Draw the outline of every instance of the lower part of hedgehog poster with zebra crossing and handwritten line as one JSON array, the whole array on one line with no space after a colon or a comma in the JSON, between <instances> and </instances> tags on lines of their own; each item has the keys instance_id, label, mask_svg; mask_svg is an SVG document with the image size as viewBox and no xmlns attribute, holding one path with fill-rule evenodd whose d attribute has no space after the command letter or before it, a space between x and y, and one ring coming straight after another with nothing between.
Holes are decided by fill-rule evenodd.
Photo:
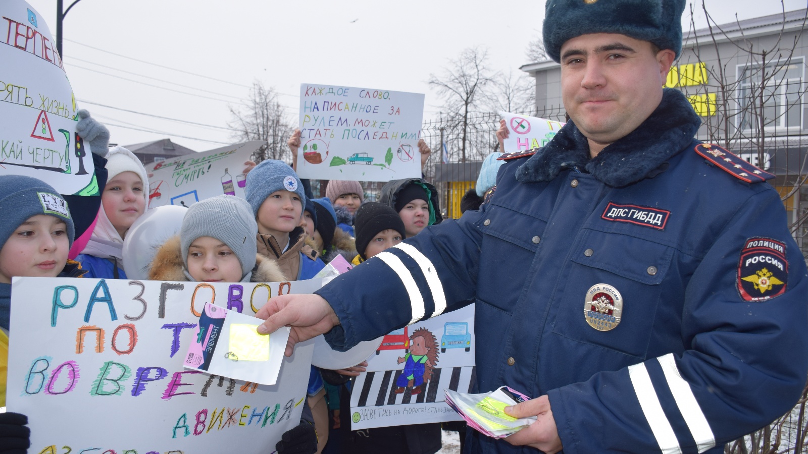
<instances>
[{"instance_id":1,"label":"lower part of hedgehog poster with zebra crossing and handwritten line","mask_svg":"<svg viewBox=\"0 0 808 454\"><path fill-rule=\"evenodd\" d=\"M425 391L412 395L410 389L395 393L395 378L401 373L402 369L399 369L366 372L356 377L351 392L351 413L355 415L352 429L458 421L460 416L444 402L445 389L470 393L477 378L474 366L436 368ZM406 422L409 414L415 417L413 422ZM424 419L424 414L428 414L428 420ZM390 418L389 423L385 422L385 416L393 415L396 417Z\"/></svg>"}]
</instances>

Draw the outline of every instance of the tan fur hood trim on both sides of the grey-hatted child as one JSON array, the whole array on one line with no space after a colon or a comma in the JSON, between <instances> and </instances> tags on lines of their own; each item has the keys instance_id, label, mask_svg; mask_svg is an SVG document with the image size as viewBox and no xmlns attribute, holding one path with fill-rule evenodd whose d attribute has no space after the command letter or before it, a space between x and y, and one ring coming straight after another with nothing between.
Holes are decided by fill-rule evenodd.
<instances>
[{"instance_id":1,"label":"tan fur hood trim on both sides of the grey-hatted child","mask_svg":"<svg viewBox=\"0 0 808 454\"><path fill-rule=\"evenodd\" d=\"M152 266L149 270L149 280L175 280L187 281L183 272L183 254L179 246L179 235L175 235L162 244L154 254ZM280 267L274 260L267 259L261 254L255 254L255 267L250 282L285 282L287 279L280 272Z\"/></svg>"}]
</instances>

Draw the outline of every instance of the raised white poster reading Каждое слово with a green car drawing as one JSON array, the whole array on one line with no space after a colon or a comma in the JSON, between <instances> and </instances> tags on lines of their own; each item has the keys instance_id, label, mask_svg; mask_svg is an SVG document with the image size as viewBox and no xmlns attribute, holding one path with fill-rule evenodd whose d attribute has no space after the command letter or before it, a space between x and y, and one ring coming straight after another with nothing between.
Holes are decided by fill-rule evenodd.
<instances>
[{"instance_id":1,"label":"raised white poster reading \u041a\u0430\u0436\u0434\u043e\u0435 \u0441\u043b\u043e\u0432\u043e with a green car drawing","mask_svg":"<svg viewBox=\"0 0 808 454\"><path fill-rule=\"evenodd\" d=\"M423 94L301 84L297 174L390 181L421 176Z\"/></svg>"}]
</instances>

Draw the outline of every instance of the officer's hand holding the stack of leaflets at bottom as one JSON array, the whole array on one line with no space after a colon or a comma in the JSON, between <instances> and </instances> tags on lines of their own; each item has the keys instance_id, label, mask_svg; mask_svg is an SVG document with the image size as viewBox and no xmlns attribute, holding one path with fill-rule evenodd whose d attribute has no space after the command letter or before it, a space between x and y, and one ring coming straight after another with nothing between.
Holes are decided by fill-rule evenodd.
<instances>
[{"instance_id":1,"label":"officer's hand holding the stack of leaflets at bottom","mask_svg":"<svg viewBox=\"0 0 808 454\"><path fill-rule=\"evenodd\" d=\"M507 406L505 413L514 418L528 416L538 418L537 422L533 422L530 426L507 437L505 441L508 443L530 446L547 454L554 454L562 450L561 439L558 438L558 429L556 429L555 419L553 419L553 410L550 410L550 400L546 395L515 406Z\"/></svg>"}]
</instances>

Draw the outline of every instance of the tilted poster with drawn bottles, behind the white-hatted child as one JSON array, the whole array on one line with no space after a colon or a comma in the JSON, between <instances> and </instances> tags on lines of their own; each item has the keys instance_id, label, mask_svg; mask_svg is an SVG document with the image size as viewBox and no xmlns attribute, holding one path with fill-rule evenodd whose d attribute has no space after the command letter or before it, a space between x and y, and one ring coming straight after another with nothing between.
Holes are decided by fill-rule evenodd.
<instances>
[{"instance_id":1,"label":"tilted poster with drawn bottles, behind the white-hatted child","mask_svg":"<svg viewBox=\"0 0 808 454\"><path fill-rule=\"evenodd\" d=\"M265 145L266 141L248 141L149 164L149 208L190 207L222 194L246 198L244 162Z\"/></svg>"}]
</instances>

